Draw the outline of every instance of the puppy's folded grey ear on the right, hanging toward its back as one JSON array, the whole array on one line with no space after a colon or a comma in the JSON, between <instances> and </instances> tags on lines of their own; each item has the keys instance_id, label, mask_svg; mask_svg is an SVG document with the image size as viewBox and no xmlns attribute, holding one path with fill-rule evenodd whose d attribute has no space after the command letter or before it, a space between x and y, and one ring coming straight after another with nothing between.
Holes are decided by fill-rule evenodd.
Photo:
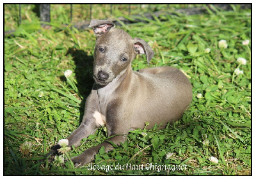
<instances>
[{"instance_id":1,"label":"puppy's folded grey ear on the right, hanging toward its back","mask_svg":"<svg viewBox=\"0 0 256 180\"><path fill-rule=\"evenodd\" d=\"M140 38L134 38L134 49L137 52L137 54L146 54L148 66L149 66L149 61L152 59L154 56L154 51L148 45L148 43L144 40L141 40Z\"/></svg>"}]
</instances>

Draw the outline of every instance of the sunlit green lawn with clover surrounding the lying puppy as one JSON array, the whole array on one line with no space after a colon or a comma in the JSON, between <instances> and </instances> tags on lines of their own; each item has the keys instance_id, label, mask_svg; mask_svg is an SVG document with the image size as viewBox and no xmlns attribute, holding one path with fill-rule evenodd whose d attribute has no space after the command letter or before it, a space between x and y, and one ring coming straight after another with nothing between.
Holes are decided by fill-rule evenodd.
<instances>
[{"instance_id":1,"label":"sunlit green lawn with clover surrounding the lying puppy","mask_svg":"<svg viewBox=\"0 0 256 180\"><path fill-rule=\"evenodd\" d=\"M36 19L35 14L28 14ZM5 18L12 15L13 10L4 11ZM65 22L65 17L61 20ZM12 26L8 23L4 24L5 31L15 27L14 20ZM155 52L150 67L174 66L188 75L193 102L180 121L164 130L157 126L148 131L134 130L113 151L100 149L94 163L113 165L109 171L88 170L87 166L74 169L69 161L69 157L104 141L106 128L64 154L65 163L61 157L51 163L44 158L59 139L79 126L93 84L92 30L52 24L51 29L41 29L35 20L4 38L5 175L252 174L251 43L242 44L243 40L251 41L250 10L236 6L232 11L218 10L210 15L163 15L147 24L120 27L132 37L148 41ZM220 40L227 40L227 49L218 47ZM211 52L205 53L207 48ZM246 59L246 65L239 65L238 57ZM237 66L243 74L234 73ZM136 57L132 68L147 68L145 57ZM70 81L64 77L65 70L73 71ZM196 97L199 93L202 98ZM172 156L166 159L167 153ZM218 163L209 161L211 156L218 158ZM117 165L130 163L134 169L115 170ZM136 170L136 165L147 163L187 168Z\"/></svg>"}]
</instances>

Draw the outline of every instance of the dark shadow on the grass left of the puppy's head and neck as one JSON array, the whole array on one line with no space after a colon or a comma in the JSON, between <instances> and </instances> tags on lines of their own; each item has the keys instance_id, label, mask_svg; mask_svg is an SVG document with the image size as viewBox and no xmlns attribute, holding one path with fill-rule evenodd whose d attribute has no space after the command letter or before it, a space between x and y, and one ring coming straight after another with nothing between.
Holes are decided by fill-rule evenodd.
<instances>
[{"instance_id":1,"label":"dark shadow on the grass left of the puppy's head and neck","mask_svg":"<svg viewBox=\"0 0 256 180\"><path fill-rule=\"evenodd\" d=\"M92 90L94 83L93 80L93 56L88 56L83 50L78 50L74 48L69 48L66 56L71 54L73 60L76 64L76 80L77 80L77 89L80 97L82 99L80 103L80 117L79 124L83 120L84 115L84 105L86 98ZM65 77L63 77L65 79Z\"/></svg>"}]
</instances>

